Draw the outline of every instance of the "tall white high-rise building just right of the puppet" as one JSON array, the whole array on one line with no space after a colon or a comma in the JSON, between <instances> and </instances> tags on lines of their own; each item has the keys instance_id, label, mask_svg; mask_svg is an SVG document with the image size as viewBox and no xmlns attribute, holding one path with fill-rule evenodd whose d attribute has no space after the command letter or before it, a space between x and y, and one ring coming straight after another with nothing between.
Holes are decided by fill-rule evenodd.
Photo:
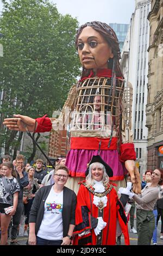
<instances>
[{"instance_id":1,"label":"tall white high-rise building just right of the puppet","mask_svg":"<svg viewBox=\"0 0 163 256\"><path fill-rule=\"evenodd\" d=\"M147 169L146 103L148 85L148 45L151 0L135 0L129 30L122 50L121 66L126 81L133 86L132 126L136 162L140 173Z\"/></svg>"}]
</instances>

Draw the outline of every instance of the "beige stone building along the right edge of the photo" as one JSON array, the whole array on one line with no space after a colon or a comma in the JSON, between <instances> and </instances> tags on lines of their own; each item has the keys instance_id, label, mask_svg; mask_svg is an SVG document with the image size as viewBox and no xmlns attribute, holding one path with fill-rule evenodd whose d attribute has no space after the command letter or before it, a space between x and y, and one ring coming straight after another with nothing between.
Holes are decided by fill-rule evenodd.
<instances>
[{"instance_id":1,"label":"beige stone building along the right edge of the photo","mask_svg":"<svg viewBox=\"0 0 163 256\"><path fill-rule=\"evenodd\" d=\"M163 1L152 0L148 61L148 169L163 168Z\"/></svg>"}]
</instances>

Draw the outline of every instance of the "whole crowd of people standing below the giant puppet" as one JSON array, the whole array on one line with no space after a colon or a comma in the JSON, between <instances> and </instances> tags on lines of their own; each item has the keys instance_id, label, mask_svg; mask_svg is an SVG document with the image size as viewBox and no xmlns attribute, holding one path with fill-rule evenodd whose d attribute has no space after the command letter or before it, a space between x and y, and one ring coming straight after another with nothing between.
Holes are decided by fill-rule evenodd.
<instances>
[{"instance_id":1,"label":"whole crowd of people standing below the giant puppet","mask_svg":"<svg viewBox=\"0 0 163 256\"><path fill-rule=\"evenodd\" d=\"M162 169L145 172L139 195L131 190L128 176L127 187L119 189L118 198L115 184L109 180L111 167L101 156L93 156L76 195L66 187L69 170L65 161L60 157L55 169L47 173L42 169L42 159L37 159L34 167L25 164L23 155L12 162L10 156L2 157L1 245L8 245L9 235L10 245L19 245L22 215L26 216L24 235L28 236L28 245L121 245L122 234L129 245L128 220L130 232L137 233L137 245L151 245L151 241L156 245L160 217L163 239ZM129 215L126 204L131 205Z\"/></svg>"}]
</instances>

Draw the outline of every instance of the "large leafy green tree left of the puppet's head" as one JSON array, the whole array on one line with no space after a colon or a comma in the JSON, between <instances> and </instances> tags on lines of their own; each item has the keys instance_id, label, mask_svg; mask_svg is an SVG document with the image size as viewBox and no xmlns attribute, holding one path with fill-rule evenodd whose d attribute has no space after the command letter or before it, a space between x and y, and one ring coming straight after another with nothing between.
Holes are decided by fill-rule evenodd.
<instances>
[{"instance_id":1,"label":"large leafy green tree left of the puppet's head","mask_svg":"<svg viewBox=\"0 0 163 256\"><path fill-rule=\"evenodd\" d=\"M0 92L5 93L0 113L32 118L48 113L51 117L64 105L79 75L74 47L78 21L59 14L49 1L2 2L0 27L5 37L0 39Z\"/></svg>"}]
</instances>

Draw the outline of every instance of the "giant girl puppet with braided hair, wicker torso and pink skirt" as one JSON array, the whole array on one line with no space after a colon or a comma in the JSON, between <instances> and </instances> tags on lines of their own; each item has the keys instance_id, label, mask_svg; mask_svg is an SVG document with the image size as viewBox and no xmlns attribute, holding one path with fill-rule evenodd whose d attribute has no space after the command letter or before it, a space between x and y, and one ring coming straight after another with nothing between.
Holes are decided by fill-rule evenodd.
<instances>
[{"instance_id":1,"label":"giant girl puppet with braided hair, wicker torso and pink skirt","mask_svg":"<svg viewBox=\"0 0 163 256\"><path fill-rule=\"evenodd\" d=\"M124 87L120 68L120 47L113 29L105 23L87 22L78 29L76 48L83 66L82 76L72 86L59 119L45 115L32 119L23 115L4 119L10 130L45 132L70 122L71 149L66 166L70 169L68 186L78 191L87 164L100 155L113 170L110 180L124 186L130 173L133 191L141 191L139 171L131 131L132 87ZM67 182L68 183L68 182Z\"/></svg>"}]
</instances>

